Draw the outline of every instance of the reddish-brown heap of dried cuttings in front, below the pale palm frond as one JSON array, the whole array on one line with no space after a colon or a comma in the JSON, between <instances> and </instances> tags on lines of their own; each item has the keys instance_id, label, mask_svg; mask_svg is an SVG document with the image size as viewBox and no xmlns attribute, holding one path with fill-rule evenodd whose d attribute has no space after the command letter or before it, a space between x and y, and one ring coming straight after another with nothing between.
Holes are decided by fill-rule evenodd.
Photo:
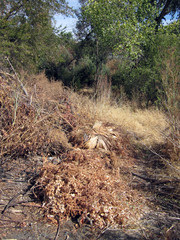
<instances>
[{"instance_id":1,"label":"reddish-brown heap of dried cuttings in front, below the pale palm frond","mask_svg":"<svg viewBox=\"0 0 180 240\"><path fill-rule=\"evenodd\" d=\"M103 228L120 226L141 216L143 199L110 167L110 158L92 150L74 150L59 165L45 162L36 192L45 215L55 221L79 218Z\"/></svg>"}]
</instances>

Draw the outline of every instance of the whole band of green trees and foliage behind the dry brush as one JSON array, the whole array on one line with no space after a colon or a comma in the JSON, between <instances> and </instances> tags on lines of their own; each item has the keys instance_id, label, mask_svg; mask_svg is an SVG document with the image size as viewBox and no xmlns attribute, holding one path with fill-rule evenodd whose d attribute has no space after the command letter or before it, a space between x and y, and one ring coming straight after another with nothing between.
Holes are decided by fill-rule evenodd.
<instances>
[{"instance_id":1,"label":"whole band of green trees and foliage behind the dry brush","mask_svg":"<svg viewBox=\"0 0 180 240\"><path fill-rule=\"evenodd\" d=\"M179 61L179 21L158 25L158 31L157 24L162 13L166 14L164 9L173 15L179 9L178 3L80 2L75 41L72 34L52 25L53 14L70 13L66 1L0 1L1 59L7 56L17 71L45 70L49 79L62 80L77 89L96 86L98 79L107 78L112 79L113 90L124 89L129 99L136 93L146 105L172 102L175 91L169 90L178 89L173 83L177 74L170 70L177 69L175 63ZM119 66L112 71L106 63L114 56Z\"/></svg>"}]
</instances>

